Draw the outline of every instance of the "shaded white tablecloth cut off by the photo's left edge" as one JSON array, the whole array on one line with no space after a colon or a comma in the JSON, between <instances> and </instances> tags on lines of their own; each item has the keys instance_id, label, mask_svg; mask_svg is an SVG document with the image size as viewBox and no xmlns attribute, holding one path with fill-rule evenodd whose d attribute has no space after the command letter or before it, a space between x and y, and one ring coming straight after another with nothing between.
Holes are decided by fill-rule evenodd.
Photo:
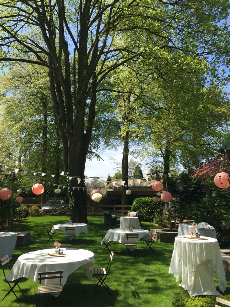
<instances>
[{"instance_id":1,"label":"shaded white tablecloth cut off by the photo's left edge","mask_svg":"<svg viewBox=\"0 0 230 307\"><path fill-rule=\"evenodd\" d=\"M6 255L12 258L12 254L17 241L17 233L13 232L1 232L0 233L0 258Z\"/></svg>"}]
</instances>

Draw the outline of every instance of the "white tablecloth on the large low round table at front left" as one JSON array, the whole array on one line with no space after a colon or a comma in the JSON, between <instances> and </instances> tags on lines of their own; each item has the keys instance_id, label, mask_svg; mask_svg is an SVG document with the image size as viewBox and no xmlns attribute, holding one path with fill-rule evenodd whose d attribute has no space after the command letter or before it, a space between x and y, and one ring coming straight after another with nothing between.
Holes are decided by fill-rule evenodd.
<instances>
[{"instance_id":1,"label":"white tablecloth on the large low round table at front left","mask_svg":"<svg viewBox=\"0 0 230 307\"><path fill-rule=\"evenodd\" d=\"M68 276L81 265L87 268L86 276L92 278L91 267L95 263L92 252L85 249L63 248L63 253L67 254L67 257L54 257L48 253L55 253L55 249L42 249L19 256L6 279L12 281L19 277L26 277L37 282L39 272L63 270L62 285L64 285ZM56 279L43 281L43 285L55 283L57 283Z\"/></svg>"}]
</instances>

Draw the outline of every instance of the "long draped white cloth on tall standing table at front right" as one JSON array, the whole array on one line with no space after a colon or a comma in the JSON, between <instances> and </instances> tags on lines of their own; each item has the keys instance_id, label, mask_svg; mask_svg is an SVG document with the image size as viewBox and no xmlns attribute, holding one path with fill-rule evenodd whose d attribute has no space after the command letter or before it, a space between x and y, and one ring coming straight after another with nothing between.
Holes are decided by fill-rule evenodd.
<instances>
[{"instance_id":1,"label":"long draped white cloth on tall standing table at front right","mask_svg":"<svg viewBox=\"0 0 230 307\"><path fill-rule=\"evenodd\" d=\"M183 236L176 237L168 272L174 274L176 282L179 276L182 276L179 286L187 290L190 297L220 295L212 276L218 276L222 292L227 286L220 247L214 238L196 240Z\"/></svg>"}]
</instances>

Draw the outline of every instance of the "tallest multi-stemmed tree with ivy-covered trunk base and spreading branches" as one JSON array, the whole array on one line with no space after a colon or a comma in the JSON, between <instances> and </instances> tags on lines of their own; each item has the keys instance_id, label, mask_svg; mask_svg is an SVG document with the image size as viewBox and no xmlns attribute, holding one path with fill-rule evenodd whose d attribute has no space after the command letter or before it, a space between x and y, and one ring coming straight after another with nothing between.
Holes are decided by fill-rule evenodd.
<instances>
[{"instance_id":1,"label":"tallest multi-stemmed tree with ivy-covered trunk base and spreading branches","mask_svg":"<svg viewBox=\"0 0 230 307\"><path fill-rule=\"evenodd\" d=\"M217 53L214 40L218 34L225 38L217 23L226 18L228 8L227 0L0 3L0 60L49 69L53 112L63 143L65 169L73 177L71 184L78 185L76 177L84 178L96 96L103 79L148 51L156 58L157 49L168 53L180 49L199 56ZM121 39L123 33L126 35ZM150 38L147 47L143 41L148 43ZM223 53L224 45L220 47ZM84 187L84 181L79 185ZM73 220L87 222L84 189L74 190L71 207Z\"/></svg>"}]
</instances>

